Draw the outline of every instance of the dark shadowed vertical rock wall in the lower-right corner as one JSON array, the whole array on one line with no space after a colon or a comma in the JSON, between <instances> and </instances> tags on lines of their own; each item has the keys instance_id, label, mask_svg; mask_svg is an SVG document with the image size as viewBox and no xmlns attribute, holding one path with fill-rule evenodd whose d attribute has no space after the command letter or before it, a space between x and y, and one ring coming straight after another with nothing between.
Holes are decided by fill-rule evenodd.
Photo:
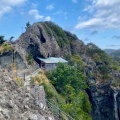
<instances>
[{"instance_id":1,"label":"dark shadowed vertical rock wall in the lower-right corner","mask_svg":"<svg viewBox=\"0 0 120 120\"><path fill-rule=\"evenodd\" d=\"M93 120L120 119L120 90L108 85L91 85L88 90L92 103Z\"/></svg>"}]
</instances>

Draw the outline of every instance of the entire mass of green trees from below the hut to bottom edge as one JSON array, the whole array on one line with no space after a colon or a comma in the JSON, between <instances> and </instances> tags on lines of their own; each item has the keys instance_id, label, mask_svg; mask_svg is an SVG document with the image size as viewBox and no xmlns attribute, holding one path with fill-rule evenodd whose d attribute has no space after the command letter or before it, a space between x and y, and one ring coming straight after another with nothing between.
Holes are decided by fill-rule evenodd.
<instances>
[{"instance_id":1,"label":"entire mass of green trees from below the hut to bottom edge","mask_svg":"<svg viewBox=\"0 0 120 120\"><path fill-rule=\"evenodd\" d=\"M91 104L85 92L87 87L85 77L80 72L69 65L58 64L56 70L48 75L56 91L64 98L65 104L61 109L70 114L74 119L91 120L89 113Z\"/></svg>"}]
</instances>

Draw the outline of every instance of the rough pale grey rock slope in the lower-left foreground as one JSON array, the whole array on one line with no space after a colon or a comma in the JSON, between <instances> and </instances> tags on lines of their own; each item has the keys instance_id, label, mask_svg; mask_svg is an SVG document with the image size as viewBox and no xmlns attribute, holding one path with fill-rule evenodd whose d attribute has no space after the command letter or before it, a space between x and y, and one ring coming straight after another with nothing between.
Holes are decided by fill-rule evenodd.
<instances>
[{"instance_id":1,"label":"rough pale grey rock slope in the lower-left foreground","mask_svg":"<svg viewBox=\"0 0 120 120\"><path fill-rule=\"evenodd\" d=\"M0 120L54 120L42 86L19 88L0 70Z\"/></svg>"}]
</instances>

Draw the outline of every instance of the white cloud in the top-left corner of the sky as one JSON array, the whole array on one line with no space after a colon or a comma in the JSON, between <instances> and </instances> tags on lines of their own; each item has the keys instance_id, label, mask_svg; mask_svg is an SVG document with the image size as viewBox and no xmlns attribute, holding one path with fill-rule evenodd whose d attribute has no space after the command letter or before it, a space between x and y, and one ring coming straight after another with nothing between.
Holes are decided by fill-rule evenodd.
<instances>
[{"instance_id":1,"label":"white cloud in the top-left corner of the sky","mask_svg":"<svg viewBox=\"0 0 120 120\"><path fill-rule=\"evenodd\" d=\"M0 17L9 13L13 7L24 4L27 0L0 0Z\"/></svg>"}]
</instances>

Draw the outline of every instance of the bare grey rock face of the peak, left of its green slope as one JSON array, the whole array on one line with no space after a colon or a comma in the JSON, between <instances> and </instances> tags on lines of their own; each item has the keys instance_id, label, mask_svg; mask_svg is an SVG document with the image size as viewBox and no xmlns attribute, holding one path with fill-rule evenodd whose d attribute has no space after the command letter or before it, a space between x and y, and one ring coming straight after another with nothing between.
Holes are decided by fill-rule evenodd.
<instances>
[{"instance_id":1,"label":"bare grey rock face of the peak, left of its green slope","mask_svg":"<svg viewBox=\"0 0 120 120\"><path fill-rule=\"evenodd\" d=\"M55 37L48 36L40 23L33 24L29 27L27 31L19 37L17 44L28 53L38 54L42 57L48 57L48 55L53 56L61 52Z\"/></svg>"}]
</instances>

